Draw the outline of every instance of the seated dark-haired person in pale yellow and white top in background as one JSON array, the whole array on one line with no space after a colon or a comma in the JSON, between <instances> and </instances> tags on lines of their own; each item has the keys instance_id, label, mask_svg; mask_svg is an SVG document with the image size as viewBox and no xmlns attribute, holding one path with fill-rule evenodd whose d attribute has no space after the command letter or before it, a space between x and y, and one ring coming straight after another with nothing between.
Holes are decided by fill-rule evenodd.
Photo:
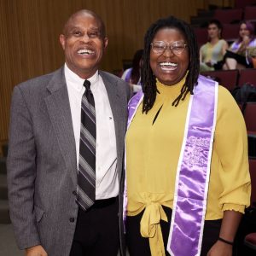
<instances>
[{"instance_id":1,"label":"seated dark-haired person in pale yellow and white top in background","mask_svg":"<svg viewBox=\"0 0 256 256\"><path fill-rule=\"evenodd\" d=\"M223 59L229 44L222 39L223 26L219 20L211 20L208 24L208 42L200 49L200 71L222 69Z\"/></svg>"}]
</instances>

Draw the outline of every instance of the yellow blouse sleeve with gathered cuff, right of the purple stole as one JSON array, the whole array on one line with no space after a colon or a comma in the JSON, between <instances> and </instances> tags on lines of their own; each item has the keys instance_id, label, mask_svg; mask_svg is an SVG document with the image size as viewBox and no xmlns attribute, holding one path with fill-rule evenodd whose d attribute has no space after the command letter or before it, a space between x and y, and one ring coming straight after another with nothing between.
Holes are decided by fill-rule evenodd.
<instances>
[{"instance_id":1,"label":"yellow blouse sleeve with gathered cuff, right of the purple stole","mask_svg":"<svg viewBox=\"0 0 256 256\"><path fill-rule=\"evenodd\" d=\"M244 212L250 204L251 180L248 167L247 130L236 101L219 86L214 150L218 154L222 193L219 204L225 210Z\"/></svg>"}]
</instances>

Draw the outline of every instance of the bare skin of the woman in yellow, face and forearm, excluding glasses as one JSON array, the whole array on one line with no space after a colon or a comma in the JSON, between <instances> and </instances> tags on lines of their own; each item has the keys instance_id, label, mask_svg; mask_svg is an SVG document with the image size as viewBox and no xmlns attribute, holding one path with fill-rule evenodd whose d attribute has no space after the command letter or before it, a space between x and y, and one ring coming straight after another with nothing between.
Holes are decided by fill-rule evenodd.
<instances>
[{"instance_id":1,"label":"bare skin of the woman in yellow, face and forearm, excluding glasses","mask_svg":"<svg viewBox=\"0 0 256 256\"><path fill-rule=\"evenodd\" d=\"M186 42L182 32L176 28L160 29L153 39L163 41L166 44L172 42ZM172 65L167 65L172 63ZM162 54L156 54L150 51L150 67L157 79L166 86L177 84L185 76L189 67L189 51L184 49L179 55L173 54L171 49L166 49ZM224 211L224 217L221 224L219 236L227 241L234 241L236 230L241 221L242 214L235 211ZM232 256L232 246L223 241L216 241L207 253L207 256Z\"/></svg>"}]
</instances>

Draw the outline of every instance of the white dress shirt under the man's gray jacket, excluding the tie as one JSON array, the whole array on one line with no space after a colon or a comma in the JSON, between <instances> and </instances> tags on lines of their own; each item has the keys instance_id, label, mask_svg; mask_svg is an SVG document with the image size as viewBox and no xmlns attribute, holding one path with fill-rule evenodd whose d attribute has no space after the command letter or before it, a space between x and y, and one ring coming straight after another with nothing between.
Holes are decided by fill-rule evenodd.
<instances>
[{"instance_id":1,"label":"white dress shirt under the man's gray jacket, excluding the tie","mask_svg":"<svg viewBox=\"0 0 256 256\"><path fill-rule=\"evenodd\" d=\"M84 79L73 73L67 67L67 64L65 64L64 72L76 142L77 166L79 168L81 101L85 91ZM119 194L113 113L108 101L107 90L99 73L96 72L88 80L90 81L90 90L94 96L96 108L96 200L107 199Z\"/></svg>"}]
</instances>

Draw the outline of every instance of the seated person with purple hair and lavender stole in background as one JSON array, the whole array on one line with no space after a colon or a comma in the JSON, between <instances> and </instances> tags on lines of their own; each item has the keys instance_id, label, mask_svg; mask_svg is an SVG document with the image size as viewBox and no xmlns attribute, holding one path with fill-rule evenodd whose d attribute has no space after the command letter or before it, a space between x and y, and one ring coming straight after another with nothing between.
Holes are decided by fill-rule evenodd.
<instances>
[{"instance_id":1,"label":"seated person with purple hair and lavender stole in background","mask_svg":"<svg viewBox=\"0 0 256 256\"><path fill-rule=\"evenodd\" d=\"M253 67L252 58L248 55L248 48L256 47L253 24L241 21L239 38L230 45L224 58L223 69L244 69Z\"/></svg>"}]
</instances>

